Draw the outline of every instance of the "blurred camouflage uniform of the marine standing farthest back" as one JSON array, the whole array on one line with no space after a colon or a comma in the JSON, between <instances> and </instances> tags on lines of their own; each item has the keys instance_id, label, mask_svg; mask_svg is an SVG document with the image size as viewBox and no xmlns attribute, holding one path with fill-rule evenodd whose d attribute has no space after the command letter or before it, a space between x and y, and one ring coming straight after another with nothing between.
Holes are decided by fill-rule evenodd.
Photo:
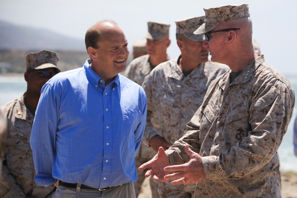
<instances>
[{"instance_id":1,"label":"blurred camouflage uniform of the marine standing farthest back","mask_svg":"<svg viewBox=\"0 0 297 198\"><path fill-rule=\"evenodd\" d=\"M167 56L167 60L169 60L169 56ZM149 63L149 55L140 56L138 58L135 58L131 61L131 63L127 66L127 69L125 71L125 76L129 78L130 80L133 80L135 83L142 85L144 77L146 75L149 75L151 72L151 67ZM155 126L155 130L160 131L160 129L157 129L158 126ZM156 151L154 151L151 147L147 147L146 145L143 145L141 143L139 151L137 153L137 156L135 158L136 163L136 171L137 171L137 180L134 182L135 192L136 196L140 193L141 185L143 183L143 180L145 179L145 173L146 170L138 170L138 167L140 165L146 163L147 161L151 160L155 155ZM155 185L153 180L151 179L151 187L152 185ZM153 195L155 192L152 192Z\"/></svg>"}]
</instances>

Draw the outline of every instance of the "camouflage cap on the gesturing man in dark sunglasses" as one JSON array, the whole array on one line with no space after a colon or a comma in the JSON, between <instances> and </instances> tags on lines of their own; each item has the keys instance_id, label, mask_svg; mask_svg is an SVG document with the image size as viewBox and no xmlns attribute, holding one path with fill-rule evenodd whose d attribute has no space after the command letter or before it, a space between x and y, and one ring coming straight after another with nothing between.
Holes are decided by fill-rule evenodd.
<instances>
[{"instance_id":1,"label":"camouflage cap on the gesturing man in dark sunglasses","mask_svg":"<svg viewBox=\"0 0 297 198\"><path fill-rule=\"evenodd\" d=\"M194 34L204 34L211 31L219 23L230 20L249 17L249 5L226 5L221 7L203 8L205 11L205 23Z\"/></svg>"}]
</instances>

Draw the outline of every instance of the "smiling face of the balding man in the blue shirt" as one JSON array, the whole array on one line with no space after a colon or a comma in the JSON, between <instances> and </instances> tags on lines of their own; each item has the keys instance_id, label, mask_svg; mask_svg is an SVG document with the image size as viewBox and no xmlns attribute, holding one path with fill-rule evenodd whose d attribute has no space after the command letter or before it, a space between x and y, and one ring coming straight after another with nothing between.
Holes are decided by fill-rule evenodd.
<instances>
[{"instance_id":1,"label":"smiling face of the balding man in the blue shirt","mask_svg":"<svg viewBox=\"0 0 297 198\"><path fill-rule=\"evenodd\" d=\"M128 42L123 32L104 34L98 42L98 62L105 72L116 76L126 69L129 56Z\"/></svg>"}]
</instances>

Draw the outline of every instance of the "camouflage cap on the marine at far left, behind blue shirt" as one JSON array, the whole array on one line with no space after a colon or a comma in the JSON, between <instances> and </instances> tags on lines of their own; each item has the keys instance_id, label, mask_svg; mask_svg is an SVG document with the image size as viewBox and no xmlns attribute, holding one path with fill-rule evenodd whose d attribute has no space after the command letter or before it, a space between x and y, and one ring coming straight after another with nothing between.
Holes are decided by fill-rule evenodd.
<instances>
[{"instance_id":1,"label":"camouflage cap on the marine at far left, behind blue shirt","mask_svg":"<svg viewBox=\"0 0 297 198\"><path fill-rule=\"evenodd\" d=\"M54 67L61 72L57 67L59 57L55 52L49 50L42 50L36 53L29 53L26 56L26 70L30 69L45 69Z\"/></svg>"}]
</instances>

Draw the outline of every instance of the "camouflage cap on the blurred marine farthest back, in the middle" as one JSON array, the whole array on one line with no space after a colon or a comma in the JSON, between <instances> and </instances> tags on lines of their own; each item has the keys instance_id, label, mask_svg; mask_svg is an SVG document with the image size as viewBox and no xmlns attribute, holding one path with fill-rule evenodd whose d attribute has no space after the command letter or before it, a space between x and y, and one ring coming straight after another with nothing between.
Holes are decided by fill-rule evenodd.
<instances>
[{"instance_id":1,"label":"camouflage cap on the blurred marine farthest back, in the middle","mask_svg":"<svg viewBox=\"0 0 297 198\"><path fill-rule=\"evenodd\" d=\"M149 31L144 35L146 39L159 39L169 34L170 24L161 22L148 22Z\"/></svg>"}]
</instances>

